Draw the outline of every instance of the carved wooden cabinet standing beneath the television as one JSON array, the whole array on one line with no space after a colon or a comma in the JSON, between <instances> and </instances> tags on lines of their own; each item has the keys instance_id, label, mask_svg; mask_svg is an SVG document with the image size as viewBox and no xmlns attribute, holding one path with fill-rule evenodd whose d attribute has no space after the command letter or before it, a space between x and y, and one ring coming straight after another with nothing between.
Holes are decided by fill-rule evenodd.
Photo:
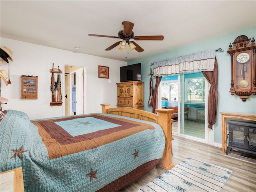
<instances>
[{"instance_id":1,"label":"carved wooden cabinet standing beneath the television","mask_svg":"<svg viewBox=\"0 0 256 192\"><path fill-rule=\"evenodd\" d=\"M144 110L143 84L141 81L117 83L117 107Z\"/></svg>"}]
</instances>

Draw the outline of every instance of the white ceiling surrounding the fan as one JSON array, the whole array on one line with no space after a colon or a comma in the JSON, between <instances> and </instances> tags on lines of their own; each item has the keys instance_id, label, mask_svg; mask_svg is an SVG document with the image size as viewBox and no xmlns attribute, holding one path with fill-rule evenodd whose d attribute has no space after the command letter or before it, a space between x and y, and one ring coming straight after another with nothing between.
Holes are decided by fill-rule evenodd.
<instances>
[{"instance_id":1,"label":"white ceiling surrounding the fan","mask_svg":"<svg viewBox=\"0 0 256 192\"><path fill-rule=\"evenodd\" d=\"M1 0L0 8L1 37L122 61L256 26L255 0ZM164 40L136 41L144 52L125 53L104 50L120 39L88 36L118 36L123 21L134 23L135 36Z\"/></svg>"}]
</instances>

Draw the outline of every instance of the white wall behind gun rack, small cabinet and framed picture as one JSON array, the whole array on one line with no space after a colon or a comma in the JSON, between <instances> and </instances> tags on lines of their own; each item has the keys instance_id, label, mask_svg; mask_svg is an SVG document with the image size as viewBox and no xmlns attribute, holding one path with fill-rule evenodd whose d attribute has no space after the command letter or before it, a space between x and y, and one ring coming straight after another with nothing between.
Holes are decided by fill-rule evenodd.
<instances>
[{"instance_id":1,"label":"white wall behind gun rack, small cabinet and framed picture","mask_svg":"<svg viewBox=\"0 0 256 192\"><path fill-rule=\"evenodd\" d=\"M52 74L49 70L60 66L62 70L62 96L64 97L64 65L82 66L86 68L86 113L101 112L100 103L117 104L117 86L120 82L120 66L127 63L118 60L101 58L76 52L40 46L36 44L0 38L1 46L7 46L13 51L13 62L10 61L10 81L5 85L1 81L2 97L8 98L8 104L2 105L2 110L13 109L24 111L30 119L64 116L62 106L50 106L52 93L50 83ZM98 66L108 66L109 79L98 78ZM0 69L8 72L8 64L1 62ZM38 99L21 99L21 75L38 76ZM64 99L62 99L64 102Z\"/></svg>"}]
</instances>

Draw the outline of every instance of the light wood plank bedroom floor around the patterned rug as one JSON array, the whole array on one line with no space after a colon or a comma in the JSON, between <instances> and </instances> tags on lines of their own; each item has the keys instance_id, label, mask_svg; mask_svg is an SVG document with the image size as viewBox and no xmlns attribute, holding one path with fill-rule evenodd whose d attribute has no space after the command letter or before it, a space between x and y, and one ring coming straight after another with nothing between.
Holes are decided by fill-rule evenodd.
<instances>
[{"instance_id":1,"label":"light wood plank bedroom floor around the patterned rug","mask_svg":"<svg viewBox=\"0 0 256 192\"><path fill-rule=\"evenodd\" d=\"M236 154L222 154L222 149L201 142L182 138L173 133L172 162L177 165L188 157L195 157L218 166L233 170L228 182L221 192L255 192L256 191L256 160ZM160 174L164 169L156 166L148 174L136 182L126 186L120 192L135 192Z\"/></svg>"}]
</instances>

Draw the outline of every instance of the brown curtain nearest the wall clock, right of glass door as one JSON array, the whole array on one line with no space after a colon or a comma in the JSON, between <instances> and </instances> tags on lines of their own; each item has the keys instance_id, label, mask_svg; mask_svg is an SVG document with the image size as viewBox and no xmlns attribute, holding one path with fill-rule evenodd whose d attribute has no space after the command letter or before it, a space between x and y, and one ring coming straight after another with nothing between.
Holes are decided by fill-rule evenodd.
<instances>
[{"instance_id":1,"label":"brown curtain nearest the wall clock, right of glass door","mask_svg":"<svg viewBox=\"0 0 256 192\"><path fill-rule=\"evenodd\" d=\"M216 122L218 106L218 62L215 58L213 71L202 71L204 77L210 82L209 100L208 100L208 128Z\"/></svg>"}]
</instances>

